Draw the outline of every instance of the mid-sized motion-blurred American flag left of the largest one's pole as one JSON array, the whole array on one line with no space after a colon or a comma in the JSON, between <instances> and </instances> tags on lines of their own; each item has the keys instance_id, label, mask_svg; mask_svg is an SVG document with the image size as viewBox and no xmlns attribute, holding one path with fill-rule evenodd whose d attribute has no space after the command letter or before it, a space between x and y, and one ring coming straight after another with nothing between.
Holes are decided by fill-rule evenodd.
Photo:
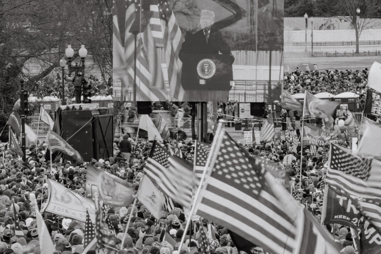
<instances>
[{"instance_id":1,"label":"mid-sized motion-blurred American flag left of the largest one's pole","mask_svg":"<svg viewBox=\"0 0 381 254\"><path fill-rule=\"evenodd\" d=\"M171 156L154 141L144 171L165 195L186 208L191 207L192 186L197 182L193 181L192 167L186 161Z\"/></svg>"}]
</instances>

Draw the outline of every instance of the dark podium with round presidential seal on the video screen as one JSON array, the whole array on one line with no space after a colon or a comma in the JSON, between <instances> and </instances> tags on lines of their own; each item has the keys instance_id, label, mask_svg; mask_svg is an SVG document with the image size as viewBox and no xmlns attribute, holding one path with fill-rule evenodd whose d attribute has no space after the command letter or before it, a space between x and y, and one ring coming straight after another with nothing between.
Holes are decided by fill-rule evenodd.
<instances>
[{"instance_id":1,"label":"dark podium with round presidential seal on the video screen","mask_svg":"<svg viewBox=\"0 0 381 254\"><path fill-rule=\"evenodd\" d=\"M227 101L233 81L231 58L227 54L183 54L184 101Z\"/></svg>"}]
</instances>

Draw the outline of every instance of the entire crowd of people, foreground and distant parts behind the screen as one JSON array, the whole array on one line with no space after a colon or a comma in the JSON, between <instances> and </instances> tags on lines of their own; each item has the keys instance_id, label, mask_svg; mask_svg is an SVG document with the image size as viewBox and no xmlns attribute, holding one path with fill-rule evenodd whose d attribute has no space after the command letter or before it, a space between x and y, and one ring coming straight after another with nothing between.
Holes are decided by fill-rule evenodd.
<instances>
[{"instance_id":1,"label":"entire crowd of people, foreground and distant parts behind the screen","mask_svg":"<svg viewBox=\"0 0 381 254\"><path fill-rule=\"evenodd\" d=\"M352 91L360 95L361 104L365 103L367 88L368 70L325 70L325 71L300 71L285 73L284 89L291 94L303 93L305 90L316 94L327 91L332 94ZM90 76L88 81L93 87L93 94L107 95L112 86L112 80L106 87L96 78ZM61 91L61 78L57 76L56 86L46 86L41 84L39 91L35 91L40 96L58 96ZM70 81L65 87L68 99L74 97ZM219 102L217 117L227 120L226 126L234 126L233 118L238 116L238 102ZM152 104L152 110L169 110L171 116L178 121L183 117L191 117L191 104L170 105L162 102ZM123 112L123 122L134 122L139 114L136 107L127 107ZM136 190L143 176L144 163L147 160L151 142L138 141L124 133L122 137L114 139L114 156L106 160L91 160L96 168L103 169L114 174L125 181L131 182ZM164 141L164 145L175 152L179 157L184 158L193 165L195 159L195 144L192 141L171 140ZM274 137L271 142L258 142L256 144L243 145L251 155L260 157L274 165L278 171L286 172L285 181L295 182L294 195L305 205L312 214L320 221L322 214L323 190L322 178L327 171L326 155L327 146L317 147L316 153L303 148L301 155L300 142L297 147L293 147L292 138L279 140ZM85 196L86 165L87 163L77 163L75 161L61 161L57 158L53 162L45 159L46 144L32 144L27 147L27 161L24 162L14 152L6 149L6 144L0 144L3 152L2 163L0 165L0 253L4 254L38 254L40 253L39 235L37 224L32 212L32 206L41 204L48 200L48 185L44 177L48 177L66 186L68 189ZM290 187L288 187L290 188ZM289 189L290 190L290 189ZM15 236L15 224L13 217L12 200L15 203L16 214L24 232L24 237ZM125 241L122 244L126 224L131 210L130 228L127 229ZM85 223L77 220L70 220L55 214L43 213L45 224L53 240L55 254L81 254L84 248ZM228 233L227 228L213 222L194 221L197 225L196 231L185 232L188 239L179 250L179 242L185 228L185 212L183 208L175 204L173 209L165 209L161 213L160 219L155 219L141 203L136 203L128 207L108 207L107 218L112 222L115 230L115 242L119 253L122 254L200 254L200 228L210 232L208 223L215 228L215 235L207 233L211 254L234 254L238 253L237 248ZM328 231L332 232L335 240L338 241L343 253L355 253L353 238L349 228L335 225L326 225ZM164 237L163 230L171 236L171 239ZM192 240L189 243L189 234ZM163 239L164 238L164 239ZM255 247L252 253L264 253L260 247ZM95 253L94 250L87 252Z\"/></svg>"}]
</instances>

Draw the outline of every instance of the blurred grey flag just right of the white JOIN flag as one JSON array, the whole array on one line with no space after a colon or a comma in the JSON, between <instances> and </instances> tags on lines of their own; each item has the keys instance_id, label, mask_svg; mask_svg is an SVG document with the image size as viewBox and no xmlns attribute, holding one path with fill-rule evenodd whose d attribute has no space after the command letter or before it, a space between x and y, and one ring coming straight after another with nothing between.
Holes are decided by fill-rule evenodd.
<instances>
[{"instance_id":1,"label":"blurred grey flag just right of the white JOIN flag","mask_svg":"<svg viewBox=\"0 0 381 254\"><path fill-rule=\"evenodd\" d=\"M86 195L88 198L99 196L103 203L112 206L128 206L133 203L134 186L113 174L86 165Z\"/></svg>"}]
</instances>

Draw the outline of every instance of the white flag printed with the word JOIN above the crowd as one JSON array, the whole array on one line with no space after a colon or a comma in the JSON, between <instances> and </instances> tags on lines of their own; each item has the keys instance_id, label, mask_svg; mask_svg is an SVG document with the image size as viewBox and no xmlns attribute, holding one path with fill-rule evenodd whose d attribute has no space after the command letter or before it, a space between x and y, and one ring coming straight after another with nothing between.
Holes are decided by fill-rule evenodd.
<instances>
[{"instance_id":1,"label":"white flag printed with the word JOIN above the crowd","mask_svg":"<svg viewBox=\"0 0 381 254\"><path fill-rule=\"evenodd\" d=\"M63 185L48 179L49 199L44 211L67 218L86 222L86 209L91 221L95 222L95 204L93 201L72 192Z\"/></svg>"}]
</instances>

